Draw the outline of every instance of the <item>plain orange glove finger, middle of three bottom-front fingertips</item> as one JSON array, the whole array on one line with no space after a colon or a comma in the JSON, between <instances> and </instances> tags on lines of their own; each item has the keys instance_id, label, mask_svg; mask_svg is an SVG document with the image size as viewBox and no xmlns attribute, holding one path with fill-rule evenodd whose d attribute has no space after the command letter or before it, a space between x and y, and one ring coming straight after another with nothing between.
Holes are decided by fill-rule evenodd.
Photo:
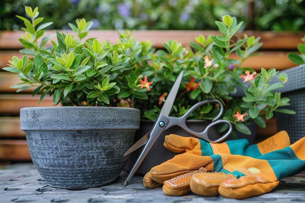
<instances>
[{"instance_id":1,"label":"plain orange glove finger, middle of three bottom-front fingertips","mask_svg":"<svg viewBox=\"0 0 305 203\"><path fill-rule=\"evenodd\" d=\"M218 194L218 187L224 181L235 177L225 173L200 173L191 178L190 188L195 194L201 196L215 196Z\"/></svg>"}]
</instances>

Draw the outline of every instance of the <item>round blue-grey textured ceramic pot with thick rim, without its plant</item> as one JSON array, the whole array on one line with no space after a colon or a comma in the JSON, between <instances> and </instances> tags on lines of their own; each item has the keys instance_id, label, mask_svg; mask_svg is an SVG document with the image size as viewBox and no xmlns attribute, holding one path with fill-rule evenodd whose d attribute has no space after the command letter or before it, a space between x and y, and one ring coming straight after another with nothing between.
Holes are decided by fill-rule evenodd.
<instances>
[{"instance_id":1,"label":"round blue-grey textured ceramic pot with thick rim, without its plant","mask_svg":"<svg viewBox=\"0 0 305 203\"><path fill-rule=\"evenodd\" d=\"M30 107L20 110L32 161L52 187L113 182L123 170L140 110L117 107Z\"/></svg>"}]
</instances>

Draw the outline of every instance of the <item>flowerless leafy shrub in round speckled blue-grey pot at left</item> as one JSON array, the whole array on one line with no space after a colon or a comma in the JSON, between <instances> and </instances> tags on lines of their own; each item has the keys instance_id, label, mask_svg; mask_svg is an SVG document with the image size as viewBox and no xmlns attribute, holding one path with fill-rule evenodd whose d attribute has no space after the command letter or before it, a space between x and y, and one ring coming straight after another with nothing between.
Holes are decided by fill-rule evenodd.
<instances>
[{"instance_id":1,"label":"flowerless leafy shrub in round speckled blue-grey pot at left","mask_svg":"<svg viewBox=\"0 0 305 203\"><path fill-rule=\"evenodd\" d=\"M152 50L145 50L142 47L149 44L134 38L122 38L115 45L96 39L81 41L92 26L85 19L77 19L76 26L70 24L76 37L56 31L57 42L47 44L54 36L42 36L52 23L40 24L43 18L38 18L37 7L25 10L30 20L17 16L25 24L25 35L19 38L25 47L20 53L25 55L22 59L13 56L3 69L18 73L21 83L13 86L17 91L36 86L33 96L41 93L40 102L50 95L54 105L63 106L20 110L33 163L53 187L109 184L126 164L123 154L133 144L140 123L140 110L120 107L118 96L128 94L120 89L127 85L125 76L143 66L150 53L146 51ZM122 58L121 52L129 57ZM135 87L131 95L145 99L145 90Z\"/></svg>"}]
</instances>

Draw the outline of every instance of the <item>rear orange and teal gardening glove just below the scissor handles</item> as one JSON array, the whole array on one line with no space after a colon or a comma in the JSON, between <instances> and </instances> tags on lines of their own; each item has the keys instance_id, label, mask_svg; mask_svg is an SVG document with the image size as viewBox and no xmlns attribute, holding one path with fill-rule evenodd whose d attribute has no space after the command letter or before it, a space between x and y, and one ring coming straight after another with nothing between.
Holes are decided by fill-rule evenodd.
<instances>
[{"instance_id":1,"label":"rear orange and teal gardening glove just below the scissor handles","mask_svg":"<svg viewBox=\"0 0 305 203\"><path fill-rule=\"evenodd\" d=\"M289 136L286 131L280 131L272 137L254 145L249 145L247 139L230 140L213 144L193 137L182 137L173 134L167 135L165 136L163 145L172 152L185 153L176 155L173 159L153 167L144 176L143 184L145 187L155 188L161 186L165 180L184 173L197 171L202 167L198 160L201 160L203 156L226 153L255 157L273 150L283 149L289 146L289 144ZM188 176L187 178L190 180L190 177ZM185 178L179 180L184 181ZM184 182L189 182L189 180ZM188 187L188 184L184 186Z\"/></svg>"}]
</instances>

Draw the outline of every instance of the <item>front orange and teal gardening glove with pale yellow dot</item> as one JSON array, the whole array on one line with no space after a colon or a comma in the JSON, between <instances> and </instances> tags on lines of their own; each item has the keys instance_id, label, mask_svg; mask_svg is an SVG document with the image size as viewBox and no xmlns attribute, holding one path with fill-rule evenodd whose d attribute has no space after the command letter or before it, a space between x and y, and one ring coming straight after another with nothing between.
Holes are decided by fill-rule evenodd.
<instances>
[{"instance_id":1,"label":"front orange and teal gardening glove with pale yellow dot","mask_svg":"<svg viewBox=\"0 0 305 203\"><path fill-rule=\"evenodd\" d=\"M204 158L203 158L204 159ZM195 194L225 198L248 198L267 193L278 180L305 170L305 137L280 150L257 158L219 154L200 160L206 170L191 178L190 188Z\"/></svg>"}]
</instances>

